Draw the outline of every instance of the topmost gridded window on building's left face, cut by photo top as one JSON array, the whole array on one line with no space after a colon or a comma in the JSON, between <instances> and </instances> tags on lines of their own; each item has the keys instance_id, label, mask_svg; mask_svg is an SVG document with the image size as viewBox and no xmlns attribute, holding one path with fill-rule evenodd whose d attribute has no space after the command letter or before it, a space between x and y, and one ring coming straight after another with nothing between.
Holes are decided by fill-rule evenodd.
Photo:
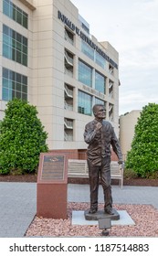
<instances>
[{"instance_id":1,"label":"topmost gridded window on building's left face, cut by photo top","mask_svg":"<svg viewBox=\"0 0 158 256\"><path fill-rule=\"evenodd\" d=\"M23 27L28 26L28 15L10 0L3 0L3 13Z\"/></svg>"}]
</instances>

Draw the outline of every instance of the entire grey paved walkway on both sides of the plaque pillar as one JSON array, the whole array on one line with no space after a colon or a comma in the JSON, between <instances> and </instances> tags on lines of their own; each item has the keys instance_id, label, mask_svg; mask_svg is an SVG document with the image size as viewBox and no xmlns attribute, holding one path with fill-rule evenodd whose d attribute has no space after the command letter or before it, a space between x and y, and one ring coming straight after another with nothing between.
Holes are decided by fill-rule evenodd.
<instances>
[{"instance_id":1,"label":"entire grey paved walkway on both sides of the plaque pillar","mask_svg":"<svg viewBox=\"0 0 158 256\"><path fill-rule=\"evenodd\" d=\"M99 191L103 202L102 187ZM113 203L150 204L158 208L158 187L112 186ZM89 185L68 184L69 202L89 202ZM37 211L37 184L0 182L0 238L24 237Z\"/></svg>"}]
</instances>

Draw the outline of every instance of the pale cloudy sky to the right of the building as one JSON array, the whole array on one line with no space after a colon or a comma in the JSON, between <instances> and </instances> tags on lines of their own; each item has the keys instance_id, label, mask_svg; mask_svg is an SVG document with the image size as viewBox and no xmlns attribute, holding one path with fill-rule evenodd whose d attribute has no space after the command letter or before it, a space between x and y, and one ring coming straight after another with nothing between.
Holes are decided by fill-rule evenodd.
<instances>
[{"instance_id":1,"label":"pale cloudy sky to the right of the building","mask_svg":"<svg viewBox=\"0 0 158 256\"><path fill-rule=\"evenodd\" d=\"M120 58L120 114L158 103L158 0L71 0Z\"/></svg>"}]
</instances>

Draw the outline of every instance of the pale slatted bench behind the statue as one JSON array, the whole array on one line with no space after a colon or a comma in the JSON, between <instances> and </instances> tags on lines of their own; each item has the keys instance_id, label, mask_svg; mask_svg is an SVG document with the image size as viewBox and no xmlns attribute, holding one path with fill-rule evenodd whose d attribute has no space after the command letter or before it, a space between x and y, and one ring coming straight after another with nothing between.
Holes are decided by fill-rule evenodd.
<instances>
[{"instance_id":1,"label":"pale slatted bench behind the statue","mask_svg":"<svg viewBox=\"0 0 158 256\"><path fill-rule=\"evenodd\" d=\"M89 177L87 160L68 159L68 177ZM123 187L123 166L117 161L111 161L111 179L119 179Z\"/></svg>"}]
</instances>

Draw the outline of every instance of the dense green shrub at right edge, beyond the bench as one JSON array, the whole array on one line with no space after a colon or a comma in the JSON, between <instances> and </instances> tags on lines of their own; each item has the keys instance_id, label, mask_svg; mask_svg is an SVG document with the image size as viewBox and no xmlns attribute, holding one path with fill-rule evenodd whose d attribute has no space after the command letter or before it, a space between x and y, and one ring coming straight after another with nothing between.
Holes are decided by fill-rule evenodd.
<instances>
[{"instance_id":1,"label":"dense green shrub at right edge, beyond the bench","mask_svg":"<svg viewBox=\"0 0 158 256\"><path fill-rule=\"evenodd\" d=\"M149 103L142 108L135 126L132 149L127 154L126 167L142 177L158 172L158 104Z\"/></svg>"}]
</instances>

